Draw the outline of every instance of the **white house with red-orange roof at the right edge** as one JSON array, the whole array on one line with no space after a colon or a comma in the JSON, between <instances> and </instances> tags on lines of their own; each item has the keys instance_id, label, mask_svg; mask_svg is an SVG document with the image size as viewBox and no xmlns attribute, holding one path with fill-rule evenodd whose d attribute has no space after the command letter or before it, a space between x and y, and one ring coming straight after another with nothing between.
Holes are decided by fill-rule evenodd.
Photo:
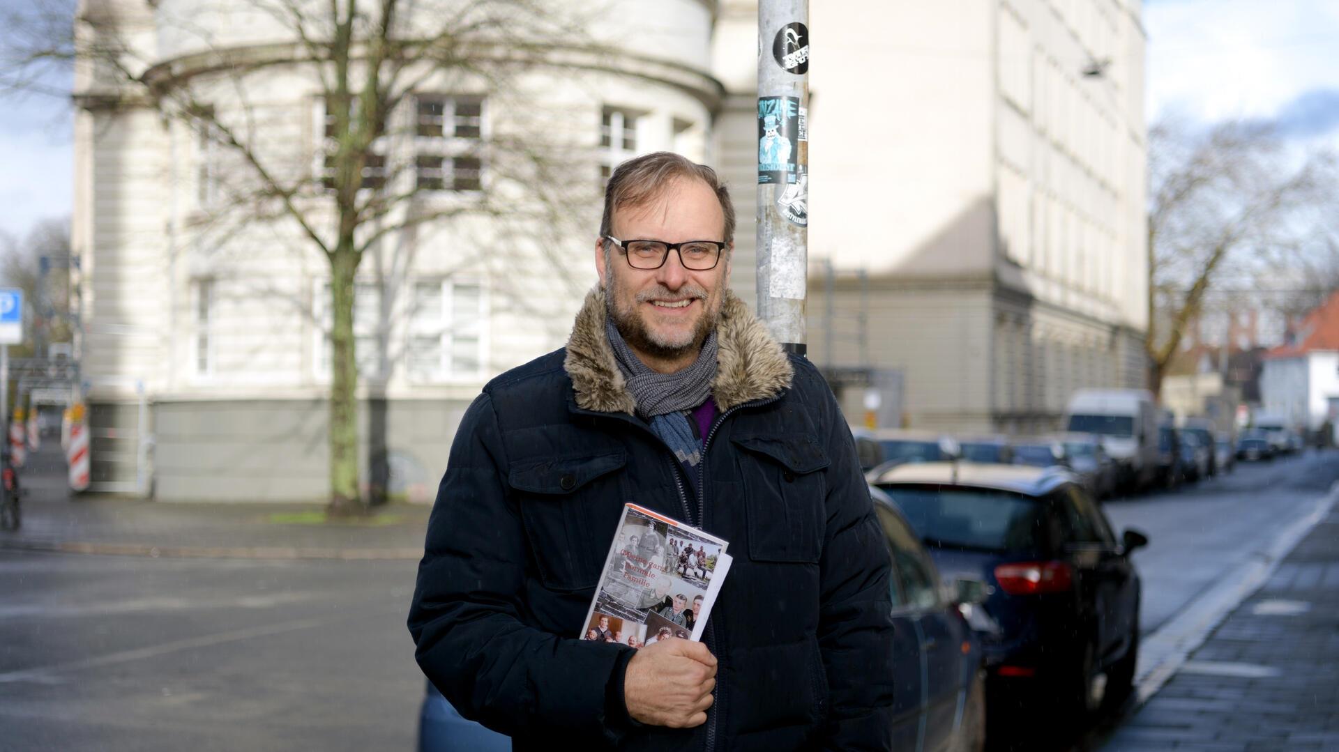
<instances>
[{"instance_id":1,"label":"white house with red-orange roof at the right edge","mask_svg":"<svg viewBox=\"0 0 1339 752\"><path fill-rule=\"evenodd\" d=\"M1265 353L1260 401L1264 413L1281 416L1293 428L1339 424L1339 292L1306 314L1287 343Z\"/></svg>"}]
</instances>

